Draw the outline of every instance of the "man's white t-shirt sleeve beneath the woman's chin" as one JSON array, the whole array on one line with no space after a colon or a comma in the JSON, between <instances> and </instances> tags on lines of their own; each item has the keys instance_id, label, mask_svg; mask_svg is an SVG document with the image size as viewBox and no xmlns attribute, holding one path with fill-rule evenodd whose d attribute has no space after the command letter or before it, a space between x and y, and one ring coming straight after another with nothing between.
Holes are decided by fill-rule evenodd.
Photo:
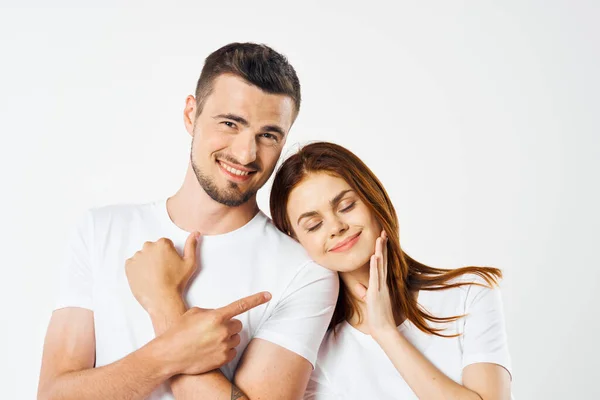
<instances>
[{"instance_id":1,"label":"man's white t-shirt sleeve beneath the woman's chin","mask_svg":"<svg viewBox=\"0 0 600 400\"><path fill-rule=\"evenodd\" d=\"M308 262L296 273L254 338L267 340L307 359L314 368L333 315L337 274Z\"/></svg>"}]
</instances>

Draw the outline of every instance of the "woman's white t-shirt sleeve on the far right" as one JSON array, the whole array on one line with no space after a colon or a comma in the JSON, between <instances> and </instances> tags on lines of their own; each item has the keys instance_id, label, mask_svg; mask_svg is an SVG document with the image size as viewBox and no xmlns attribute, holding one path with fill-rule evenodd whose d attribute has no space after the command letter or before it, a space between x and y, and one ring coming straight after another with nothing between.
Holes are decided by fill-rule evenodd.
<instances>
[{"instance_id":1,"label":"woman's white t-shirt sleeve on the far right","mask_svg":"<svg viewBox=\"0 0 600 400\"><path fill-rule=\"evenodd\" d=\"M484 283L480 278L475 282ZM470 285L465 312L462 367L493 363L512 376L500 289Z\"/></svg>"}]
</instances>

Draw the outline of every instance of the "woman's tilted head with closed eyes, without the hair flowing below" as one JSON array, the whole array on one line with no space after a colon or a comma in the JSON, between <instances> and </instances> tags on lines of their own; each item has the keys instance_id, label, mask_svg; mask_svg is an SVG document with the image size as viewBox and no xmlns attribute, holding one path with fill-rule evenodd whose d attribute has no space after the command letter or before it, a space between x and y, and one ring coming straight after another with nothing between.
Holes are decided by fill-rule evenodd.
<instances>
[{"instance_id":1,"label":"woman's tilted head with closed eyes, without the hair flowing below","mask_svg":"<svg viewBox=\"0 0 600 400\"><path fill-rule=\"evenodd\" d=\"M275 225L325 268L348 272L369 262L381 221L396 216L381 183L352 152L333 143L288 158L271 190ZM394 226L395 228L395 226Z\"/></svg>"}]
</instances>

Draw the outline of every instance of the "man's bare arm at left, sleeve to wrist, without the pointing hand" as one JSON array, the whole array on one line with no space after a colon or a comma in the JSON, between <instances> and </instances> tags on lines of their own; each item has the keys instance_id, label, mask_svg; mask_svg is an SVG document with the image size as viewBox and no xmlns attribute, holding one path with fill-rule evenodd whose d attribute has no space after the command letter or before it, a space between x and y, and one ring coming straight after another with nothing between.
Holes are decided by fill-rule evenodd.
<instances>
[{"instance_id":1,"label":"man's bare arm at left, sleeve to wrist, without the pointing hand","mask_svg":"<svg viewBox=\"0 0 600 400\"><path fill-rule=\"evenodd\" d=\"M55 311L44 343L38 399L142 399L175 373L156 340L100 368L94 368L95 347L92 311Z\"/></svg>"}]
</instances>

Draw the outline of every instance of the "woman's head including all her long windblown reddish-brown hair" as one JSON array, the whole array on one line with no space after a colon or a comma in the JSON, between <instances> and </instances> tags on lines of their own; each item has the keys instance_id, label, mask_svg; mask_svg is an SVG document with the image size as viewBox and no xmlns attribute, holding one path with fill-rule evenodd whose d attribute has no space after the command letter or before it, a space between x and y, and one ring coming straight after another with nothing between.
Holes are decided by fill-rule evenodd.
<instances>
[{"instance_id":1,"label":"woman's head including all her long windblown reddish-brown hair","mask_svg":"<svg viewBox=\"0 0 600 400\"><path fill-rule=\"evenodd\" d=\"M275 226L334 271L366 265L384 230L388 236L386 283L394 317L397 321L407 318L423 332L445 336L443 328L430 327L428 321L451 322L461 316L431 315L419 307L414 293L467 285L454 280L467 273L479 275L490 286L502 276L496 268L433 268L404 253L396 211L383 185L360 158L333 143L311 143L288 158L275 175L270 202ZM361 321L358 302L340 285L330 327L355 315Z\"/></svg>"}]
</instances>

